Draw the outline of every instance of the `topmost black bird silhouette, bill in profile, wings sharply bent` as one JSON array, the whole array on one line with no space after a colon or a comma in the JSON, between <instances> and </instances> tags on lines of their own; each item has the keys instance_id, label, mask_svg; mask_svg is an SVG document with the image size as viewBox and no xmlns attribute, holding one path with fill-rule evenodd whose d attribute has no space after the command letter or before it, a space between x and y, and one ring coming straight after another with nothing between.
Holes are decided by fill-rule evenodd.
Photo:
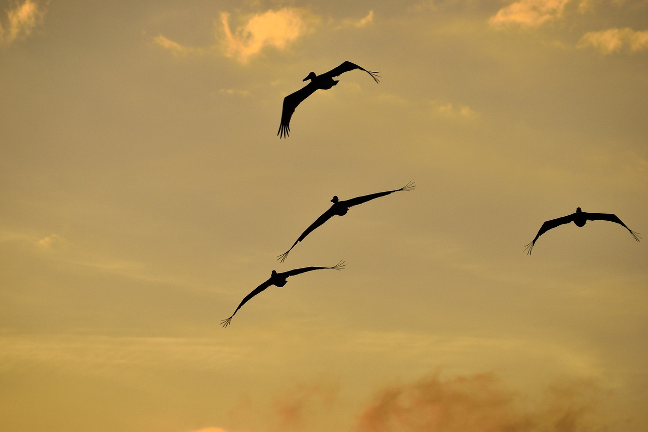
<instances>
[{"instance_id":1,"label":"topmost black bird silhouette, bill in profile, wings sharply bent","mask_svg":"<svg viewBox=\"0 0 648 432\"><path fill-rule=\"evenodd\" d=\"M353 69L360 69L361 71L365 71L366 73L371 75L371 78L373 78L375 82L380 82L378 81L380 75L376 75L376 73L379 72L367 71L367 69L364 69L363 67L360 67L357 64L353 64L351 62L344 62L340 66L334 67L330 71L325 72L321 75L315 75L314 72L309 73L308 77L303 79L303 81L310 80L310 82L305 87L295 91L295 93L292 93L291 95L284 97L284 106L281 112L281 125L279 126L279 132L277 132L279 138L283 138L284 136L286 138L288 137L288 132L290 132L290 117L292 117L292 114L295 112L297 105L299 105L308 96L315 93L316 90L329 90L332 86L335 86L339 82L338 80L334 80L333 77L338 77L338 75L341 75L348 71L353 71Z\"/></svg>"}]
</instances>

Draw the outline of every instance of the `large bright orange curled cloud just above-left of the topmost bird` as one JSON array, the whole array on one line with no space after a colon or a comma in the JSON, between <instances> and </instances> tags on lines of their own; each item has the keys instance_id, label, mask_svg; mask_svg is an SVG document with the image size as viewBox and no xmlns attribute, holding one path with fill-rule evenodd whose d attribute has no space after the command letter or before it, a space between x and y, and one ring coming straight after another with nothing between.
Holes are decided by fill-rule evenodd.
<instances>
[{"instance_id":1,"label":"large bright orange curled cloud just above-left of the topmost bird","mask_svg":"<svg viewBox=\"0 0 648 432\"><path fill-rule=\"evenodd\" d=\"M297 8L268 10L250 18L234 32L229 27L229 14L222 12L220 22L224 32L222 45L228 57L242 63L259 54L266 46L283 50L308 31L303 12Z\"/></svg>"}]
</instances>

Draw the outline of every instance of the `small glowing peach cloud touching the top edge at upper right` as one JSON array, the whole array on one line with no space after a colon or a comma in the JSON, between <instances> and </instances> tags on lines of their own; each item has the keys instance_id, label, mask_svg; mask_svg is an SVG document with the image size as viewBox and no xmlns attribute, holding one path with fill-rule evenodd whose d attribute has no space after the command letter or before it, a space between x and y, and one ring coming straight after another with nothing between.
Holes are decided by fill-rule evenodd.
<instances>
[{"instance_id":1,"label":"small glowing peach cloud touching the top edge at upper right","mask_svg":"<svg viewBox=\"0 0 648 432\"><path fill-rule=\"evenodd\" d=\"M520 25L538 27L552 19L561 18L564 7L570 0L520 0L498 10L489 19L493 27Z\"/></svg>"}]
</instances>

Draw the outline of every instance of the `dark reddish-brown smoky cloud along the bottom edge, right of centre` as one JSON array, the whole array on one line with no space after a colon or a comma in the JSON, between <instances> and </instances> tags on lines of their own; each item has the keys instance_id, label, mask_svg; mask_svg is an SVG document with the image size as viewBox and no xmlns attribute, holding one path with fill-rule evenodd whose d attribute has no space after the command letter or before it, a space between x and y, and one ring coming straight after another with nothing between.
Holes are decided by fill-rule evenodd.
<instances>
[{"instance_id":1,"label":"dark reddish-brown smoky cloud along the bottom edge, right of centre","mask_svg":"<svg viewBox=\"0 0 648 432\"><path fill-rule=\"evenodd\" d=\"M603 394L587 381L562 383L531 405L494 374L446 380L435 374L378 392L360 414L356 432L594 430L592 417ZM597 426L605 427L602 421Z\"/></svg>"}]
</instances>

